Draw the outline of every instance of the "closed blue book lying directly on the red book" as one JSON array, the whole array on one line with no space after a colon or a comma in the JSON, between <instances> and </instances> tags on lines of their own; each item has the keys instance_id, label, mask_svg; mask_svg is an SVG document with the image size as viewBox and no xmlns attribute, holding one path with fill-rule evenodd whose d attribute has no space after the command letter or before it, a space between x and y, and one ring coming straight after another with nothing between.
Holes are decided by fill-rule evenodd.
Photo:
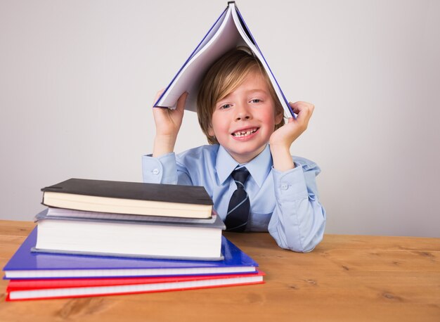
<instances>
[{"instance_id":1,"label":"closed blue book lying directly on the red book","mask_svg":"<svg viewBox=\"0 0 440 322\"><path fill-rule=\"evenodd\" d=\"M189 276L255 273L257 262L222 236L221 261L190 261L58 255L31 252L37 242L37 227L4 266L7 279L87 278L124 276Z\"/></svg>"}]
</instances>

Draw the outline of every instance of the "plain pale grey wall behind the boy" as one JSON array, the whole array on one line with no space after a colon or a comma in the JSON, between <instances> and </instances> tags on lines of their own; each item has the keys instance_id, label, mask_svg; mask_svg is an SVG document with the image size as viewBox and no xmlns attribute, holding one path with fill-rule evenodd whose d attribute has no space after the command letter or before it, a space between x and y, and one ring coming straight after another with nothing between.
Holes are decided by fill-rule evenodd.
<instances>
[{"instance_id":1,"label":"plain pale grey wall behind the boy","mask_svg":"<svg viewBox=\"0 0 440 322\"><path fill-rule=\"evenodd\" d=\"M291 152L314 160L327 233L440 237L440 1L238 7L290 101L316 105ZM40 188L141 181L151 104L226 1L0 1L0 219ZM205 144L187 112L176 151Z\"/></svg>"}]
</instances>

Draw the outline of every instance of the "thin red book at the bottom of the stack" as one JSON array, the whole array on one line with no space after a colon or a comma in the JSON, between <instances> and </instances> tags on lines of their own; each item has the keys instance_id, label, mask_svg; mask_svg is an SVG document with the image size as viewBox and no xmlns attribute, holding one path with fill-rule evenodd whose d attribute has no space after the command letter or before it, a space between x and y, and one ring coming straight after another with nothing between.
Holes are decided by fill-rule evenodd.
<instances>
[{"instance_id":1,"label":"thin red book at the bottom of the stack","mask_svg":"<svg viewBox=\"0 0 440 322\"><path fill-rule=\"evenodd\" d=\"M208 276L60 278L12 280L6 288L6 301L91 297L101 295L192 290L221 286L260 284L264 273Z\"/></svg>"}]
</instances>

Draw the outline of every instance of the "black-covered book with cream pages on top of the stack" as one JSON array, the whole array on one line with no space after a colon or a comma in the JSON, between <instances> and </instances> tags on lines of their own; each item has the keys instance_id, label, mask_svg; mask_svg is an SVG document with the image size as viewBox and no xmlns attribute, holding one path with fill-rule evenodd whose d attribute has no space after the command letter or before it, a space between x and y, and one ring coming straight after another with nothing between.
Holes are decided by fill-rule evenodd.
<instances>
[{"instance_id":1,"label":"black-covered book with cream pages on top of the stack","mask_svg":"<svg viewBox=\"0 0 440 322\"><path fill-rule=\"evenodd\" d=\"M210 218L212 200L202 186L68 179L42 188L42 204L89 212Z\"/></svg>"}]
</instances>

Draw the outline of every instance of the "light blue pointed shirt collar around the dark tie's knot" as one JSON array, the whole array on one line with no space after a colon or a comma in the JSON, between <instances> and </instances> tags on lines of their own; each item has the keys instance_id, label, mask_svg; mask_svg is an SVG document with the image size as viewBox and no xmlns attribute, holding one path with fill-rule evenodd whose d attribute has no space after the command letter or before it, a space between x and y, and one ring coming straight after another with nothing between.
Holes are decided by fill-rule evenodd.
<instances>
[{"instance_id":1,"label":"light blue pointed shirt collar around the dark tie's knot","mask_svg":"<svg viewBox=\"0 0 440 322\"><path fill-rule=\"evenodd\" d=\"M216 157L215 167L221 184L228 179L228 176L238 165L240 164L231 157L228 151L226 151L223 146L220 146ZM257 157L254 157L254 159L245 164L245 167L250 172L250 175L257 185L261 188L269 172L271 172L272 167L272 155L269 146L266 145L266 148L264 148Z\"/></svg>"}]
</instances>

